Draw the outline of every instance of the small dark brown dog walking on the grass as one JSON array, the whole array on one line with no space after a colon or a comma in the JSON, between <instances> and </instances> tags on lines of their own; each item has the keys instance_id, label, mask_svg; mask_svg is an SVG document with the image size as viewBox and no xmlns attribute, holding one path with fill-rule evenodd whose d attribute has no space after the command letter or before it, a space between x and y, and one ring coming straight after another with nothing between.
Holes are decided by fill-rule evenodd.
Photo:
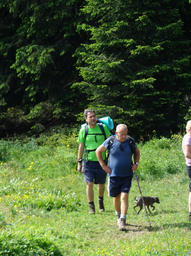
<instances>
[{"instance_id":1,"label":"small dark brown dog walking on the grass","mask_svg":"<svg viewBox=\"0 0 191 256\"><path fill-rule=\"evenodd\" d=\"M143 200L145 203L145 206L147 206L147 209L149 210L150 214L151 211L149 209L149 206L152 207L152 210L155 209L155 207L153 206L154 203L160 204L159 198L156 196L143 196ZM138 210L137 214L139 214L139 212L143 209L143 200L141 196L138 196L137 198L135 198L135 203L136 205L133 206L133 209L136 211L136 207L139 206L140 209Z\"/></svg>"}]
</instances>

